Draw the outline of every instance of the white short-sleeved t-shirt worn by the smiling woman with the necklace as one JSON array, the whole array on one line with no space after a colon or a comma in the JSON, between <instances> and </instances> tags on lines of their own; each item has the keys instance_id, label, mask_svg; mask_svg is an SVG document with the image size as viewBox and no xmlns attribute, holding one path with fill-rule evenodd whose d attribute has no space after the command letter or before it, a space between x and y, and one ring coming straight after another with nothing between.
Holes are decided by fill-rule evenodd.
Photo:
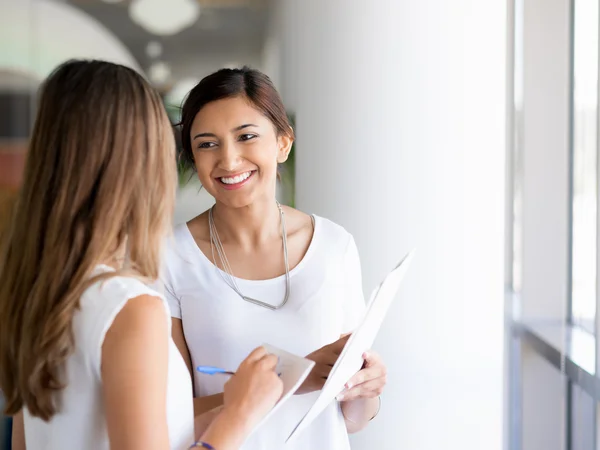
<instances>
[{"instance_id":1,"label":"white short-sleeved t-shirt worn by the smiling woman with the necklace","mask_svg":"<svg viewBox=\"0 0 600 450\"><path fill-rule=\"evenodd\" d=\"M265 343L308 355L353 330L365 307L354 239L339 225L319 217L315 217L306 255L290 272L288 303L276 311L239 297L202 253L186 224L175 229L166 255L165 294L171 315L182 319L193 367L235 370L254 348ZM283 300L284 276L236 281L244 295L273 305ZM196 372L194 381L195 395L201 397L223 392L226 378ZM333 402L297 440L285 445L316 396L316 392L294 396L248 439L243 450L348 450L338 402Z\"/></svg>"}]
</instances>

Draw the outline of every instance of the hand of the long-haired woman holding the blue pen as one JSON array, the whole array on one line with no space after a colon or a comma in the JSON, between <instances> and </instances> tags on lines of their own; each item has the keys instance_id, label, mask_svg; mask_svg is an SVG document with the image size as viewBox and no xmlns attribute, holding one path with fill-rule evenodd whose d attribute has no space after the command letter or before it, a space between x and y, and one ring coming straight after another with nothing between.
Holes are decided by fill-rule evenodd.
<instances>
[{"instance_id":1,"label":"hand of the long-haired woman holding the blue pen","mask_svg":"<svg viewBox=\"0 0 600 450\"><path fill-rule=\"evenodd\" d=\"M254 428L283 393L283 382L275 373L277 362L264 347L250 353L225 383L223 413Z\"/></svg>"}]
</instances>

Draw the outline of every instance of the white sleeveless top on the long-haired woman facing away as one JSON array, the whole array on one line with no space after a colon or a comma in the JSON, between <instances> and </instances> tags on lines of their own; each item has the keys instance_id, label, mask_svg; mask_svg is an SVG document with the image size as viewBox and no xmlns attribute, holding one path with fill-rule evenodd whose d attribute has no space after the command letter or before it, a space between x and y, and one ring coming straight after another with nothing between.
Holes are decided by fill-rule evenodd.
<instances>
[{"instance_id":1,"label":"white sleeveless top on the long-haired woman facing away","mask_svg":"<svg viewBox=\"0 0 600 450\"><path fill-rule=\"evenodd\" d=\"M111 271L99 266L98 271ZM102 398L102 343L115 317L130 298L160 294L141 281L113 277L93 283L82 295L73 317L75 351L66 363L67 387L62 391L60 412L50 422L32 417L24 410L25 442L35 450L107 450L106 417ZM164 302L164 298L163 298ZM170 337L167 385L167 422L170 448L187 450L194 442L194 407L189 371ZM167 336L165 336L167 338ZM148 367L148 370L152 370Z\"/></svg>"}]
</instances>

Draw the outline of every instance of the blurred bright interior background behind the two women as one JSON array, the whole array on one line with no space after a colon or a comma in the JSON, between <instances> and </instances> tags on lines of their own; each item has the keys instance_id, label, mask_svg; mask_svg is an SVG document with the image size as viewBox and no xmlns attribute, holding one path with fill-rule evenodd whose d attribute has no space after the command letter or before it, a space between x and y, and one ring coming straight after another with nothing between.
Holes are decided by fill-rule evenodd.
<instances>
[{"instance_id":1,"label":"blurred bright interior background behind the two women","mask_svg":"<svg viewBox=\"0 0 600 450\"><path fill-rule=\"evenodd\" d=\"M352 448L600 450L599 1L2 0L0 237L58 64L135 68L173 123L252 66L296 128L281 200L354 234L367 294L417 249ZM177 195L177 223L212 203Z\"/></svg>"}]
</instances>

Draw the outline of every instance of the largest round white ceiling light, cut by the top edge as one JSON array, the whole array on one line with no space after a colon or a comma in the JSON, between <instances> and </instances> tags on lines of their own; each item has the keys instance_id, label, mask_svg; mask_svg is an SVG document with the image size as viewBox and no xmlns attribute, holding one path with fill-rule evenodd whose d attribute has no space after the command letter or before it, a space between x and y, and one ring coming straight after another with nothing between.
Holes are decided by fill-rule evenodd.
<instances>
[{"instance_id":1,"label":"largest round white ceiling light, cut by the top edge","mask_svg":"<svg viewBox=\"0 0 600 450\"><path fill-rule=\"evenodd\" d=\"M200 5L195 0L132 0L129 16L149 33L169 36L193 25Z\"/></svg>"}]
</instances>

